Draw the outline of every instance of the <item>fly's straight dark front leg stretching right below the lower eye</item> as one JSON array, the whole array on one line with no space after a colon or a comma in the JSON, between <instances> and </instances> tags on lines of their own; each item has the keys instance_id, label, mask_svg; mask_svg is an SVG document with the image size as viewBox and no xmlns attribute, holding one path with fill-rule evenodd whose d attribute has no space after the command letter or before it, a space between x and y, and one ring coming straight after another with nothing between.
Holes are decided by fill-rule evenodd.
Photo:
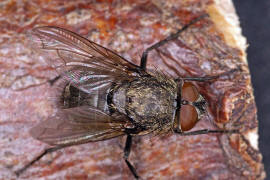
<instances>
[{"instance_id":1,"label":"fly's straight dark front leg stretching right below the lower eye","mask_svg":"<svg viewBox=\"0 0 270 180\"><path fill-rule=\"evenodd\" d=\"M180 129L175 129L175 133L181 135L181 136L192 136L192 135L200 135L200 134L209 134L209 133L226 133L226 134L237 134L239 133L239 130L226 130L226 129L201 129L197 131L190 131L190 132L183 132Z\"/></svg>"}]
</instances>

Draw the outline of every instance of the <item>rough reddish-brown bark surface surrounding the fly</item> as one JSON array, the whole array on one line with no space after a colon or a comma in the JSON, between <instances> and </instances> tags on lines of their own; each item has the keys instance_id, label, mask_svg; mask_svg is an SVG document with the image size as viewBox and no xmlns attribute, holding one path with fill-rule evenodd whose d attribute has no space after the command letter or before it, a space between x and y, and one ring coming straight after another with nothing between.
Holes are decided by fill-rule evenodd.
<instances>
[{"instance_id":1,"label":"rough reddish-brown bark surface surrounding the fly","mask_svg":"<svg viewBox=\"0 0 270 180\"><path fill-rule=\"evenodd\" d=\"M47 83L55 77L33 47L27 31L54 25L75 31L138 64L144 49L203 13L211 0L3 1L0 5L0 179L38 155L46 144L28 130L57 109ZM214 13L215 12L215 13ZM253 145L258 121L244 52L206 18L157 51L148 68L173 77L242 71L197 83L209 117L194 129L240 129L241 134L135 138L130 156L143 179L264 179L262 156ZM222 18L222 17L219 17ZM193 129L193 130L194 130ZM45 156L18 179L133 179L123 161L125 137L73 146Z\"/></svg>"}]
</instances>

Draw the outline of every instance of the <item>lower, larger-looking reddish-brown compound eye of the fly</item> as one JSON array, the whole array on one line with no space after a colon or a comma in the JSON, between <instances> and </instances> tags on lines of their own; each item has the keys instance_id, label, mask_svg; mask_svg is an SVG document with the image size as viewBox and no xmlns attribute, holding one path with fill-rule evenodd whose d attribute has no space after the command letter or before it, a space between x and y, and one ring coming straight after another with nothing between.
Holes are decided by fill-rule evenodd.
<instances>
[{"instance_id":1,"label":"lower, larger-looking reddish-brown compound eye of the fly","mask_svg":"<svg viewBox=\"0 0 270 180\"><path fill-rule=\"evenodd\" d=\"M180 126L182 131L192 129L198 122L198 114L195 107L191 105L184 105L180 109Z\"/></svg>"}]
</instances>

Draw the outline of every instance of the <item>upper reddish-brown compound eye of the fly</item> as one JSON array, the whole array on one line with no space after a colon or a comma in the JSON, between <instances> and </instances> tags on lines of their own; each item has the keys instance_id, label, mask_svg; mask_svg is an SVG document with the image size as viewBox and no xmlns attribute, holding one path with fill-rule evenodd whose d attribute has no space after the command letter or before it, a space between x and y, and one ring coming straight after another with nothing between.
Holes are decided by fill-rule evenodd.
<instances>
[{"instance_id":1,"label":"upper reddish-brown compound eye of the fly","mask_svg":"<svg viewBox=\"0 0 270 180\"><path fill-rule=\"evenodd\" d=\"M182 99L194 102L198 98L199 92L196 87L190 82L185 82L182 87Z\"/></svg>"}]
</instances>

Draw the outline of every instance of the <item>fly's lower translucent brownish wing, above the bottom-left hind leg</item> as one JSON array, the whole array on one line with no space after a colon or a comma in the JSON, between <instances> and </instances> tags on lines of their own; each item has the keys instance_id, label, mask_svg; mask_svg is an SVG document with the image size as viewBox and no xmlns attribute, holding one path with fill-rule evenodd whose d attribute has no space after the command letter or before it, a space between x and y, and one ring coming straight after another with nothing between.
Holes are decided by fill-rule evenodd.
<instances>
[{"instance_id":1,"label":"fly's lower translucent brownish wing, above the bottom-left hind leg","mask_svg":"<svg viewBox=\"0 0 270 180\"><path fill-rule=\"evenodd\" d=\"M113 118L89 106L63 109L33 127L30 134L47 144L68 146L124 135L128 120Z\"/></svg>"}]
</instances>

